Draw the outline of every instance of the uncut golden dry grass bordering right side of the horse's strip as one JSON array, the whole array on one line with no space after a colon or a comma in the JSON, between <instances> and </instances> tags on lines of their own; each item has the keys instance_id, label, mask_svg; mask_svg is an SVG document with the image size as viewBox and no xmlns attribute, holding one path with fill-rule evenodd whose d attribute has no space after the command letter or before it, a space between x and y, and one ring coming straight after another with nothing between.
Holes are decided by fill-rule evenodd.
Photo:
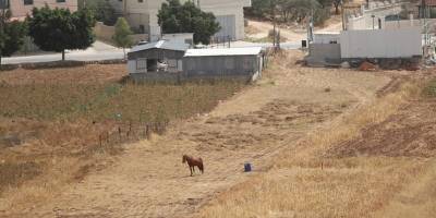
<instances>
[{"instance_id":1,"label":"uncut golden dry grass bordering right side of the horse's strip","mask_svg":"<svg viewBox=\"0 0 436 218\"><path fill-rule=\"evenodd\" d=\"M372 217L415 177L427 160L416 157L330 157L329 150L362 135L365 126L385 122L419 85L405 83L395 93L361 106L316 131L293 149L283 150L274 168L219 195L199 217Z\"/></svg>"}]
</instances>

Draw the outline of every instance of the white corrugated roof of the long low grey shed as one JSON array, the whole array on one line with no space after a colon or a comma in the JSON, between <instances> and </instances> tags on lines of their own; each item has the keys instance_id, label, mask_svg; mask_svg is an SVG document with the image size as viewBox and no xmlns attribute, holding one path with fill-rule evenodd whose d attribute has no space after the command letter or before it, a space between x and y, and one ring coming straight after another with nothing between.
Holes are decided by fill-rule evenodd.
<instances>
[{"instance_id":1,"label":"white corrugated roof of the long low grey shed","mask_svg":"<svg viewBox=\"0 0 436 218\"><path fill-rule=\"evenodd\" d=\"M261 53L262 47L250 48L216 48L216 49L189 49L184 57L207 56L255 56Z\"/></svg>"}]
</instances>

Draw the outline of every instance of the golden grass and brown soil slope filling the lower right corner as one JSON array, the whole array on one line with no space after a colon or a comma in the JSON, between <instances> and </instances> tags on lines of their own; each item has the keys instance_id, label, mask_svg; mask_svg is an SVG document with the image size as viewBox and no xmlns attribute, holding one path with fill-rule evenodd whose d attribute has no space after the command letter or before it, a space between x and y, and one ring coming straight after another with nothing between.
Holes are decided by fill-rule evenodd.
<instances>
[{"instance_id":1,"label":"golden grass and brown soil slope filling the lower right corner","mask_svg":"<svg viewBox=\"0 0 436 218\"><path fill-rule=\"evenodd\" d=\"M436 81L414 76L295 142L269 171L220 194L198 216L433 217Z\"/></svg>"}]
</instances>

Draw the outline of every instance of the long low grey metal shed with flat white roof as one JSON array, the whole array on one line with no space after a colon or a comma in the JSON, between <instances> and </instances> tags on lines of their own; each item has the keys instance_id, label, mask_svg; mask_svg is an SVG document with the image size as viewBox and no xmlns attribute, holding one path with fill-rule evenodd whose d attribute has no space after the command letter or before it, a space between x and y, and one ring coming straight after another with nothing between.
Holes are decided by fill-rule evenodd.
<instances>
[{"instance_id":1,"label":"long low grey metal shed with flat white roof","mask_svg":"<svg viewBox=\"0 0 436 218\"><path fill-rule=\"evenodd\" d=\"M261 47L227 49L189 49L183 57L186 77L245 77L262 76L264 65Z\"/></svg>"}]
</instances>

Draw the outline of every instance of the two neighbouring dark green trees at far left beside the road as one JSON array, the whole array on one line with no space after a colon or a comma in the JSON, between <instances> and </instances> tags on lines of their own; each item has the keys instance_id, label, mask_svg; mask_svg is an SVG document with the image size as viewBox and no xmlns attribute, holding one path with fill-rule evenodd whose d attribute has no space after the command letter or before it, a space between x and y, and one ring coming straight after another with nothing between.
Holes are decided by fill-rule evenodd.
<instances>
[{"instance_id":1,"label":"two neighbouring dark green trees at far left beside the road","mask_svg":"<svg viewBox=\"0 0 436 218\"><path fill-rule=\"evenodd\" d=\"M95 19L89 10L70 12L68 9L34 8L24 21L11 20L9 9L0 12L0 57L9 57L24 44L26 36L45 51L86 49L94 43ZM1 59L0 59L1 61ZM0 62L1 64L1 62Z\"/></svg>"}]
</instances>

